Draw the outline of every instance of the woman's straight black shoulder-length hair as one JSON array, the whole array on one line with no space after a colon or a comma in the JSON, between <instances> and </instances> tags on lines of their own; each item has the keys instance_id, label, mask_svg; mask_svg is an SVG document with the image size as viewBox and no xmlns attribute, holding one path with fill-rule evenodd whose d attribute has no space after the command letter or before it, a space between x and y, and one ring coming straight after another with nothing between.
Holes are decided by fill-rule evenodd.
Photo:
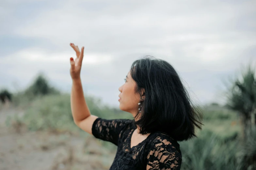
<instances>
[{"instance_id":1,"label":"woman's straight black shoulder-length hair","mask_svg":"<svg viewBox=\"0 0 256 170\"><path fill-rule=\"evenodd\" d=\"M168 62L143 57L133 62L131 76L136 82L135 92L145 96L140 102L141 113L138 110L133 120L140 134L161 131L177 141L196 136L195 126L201 129L202 114L191 103L177 72Z\"/></svg>"}]
</instances>

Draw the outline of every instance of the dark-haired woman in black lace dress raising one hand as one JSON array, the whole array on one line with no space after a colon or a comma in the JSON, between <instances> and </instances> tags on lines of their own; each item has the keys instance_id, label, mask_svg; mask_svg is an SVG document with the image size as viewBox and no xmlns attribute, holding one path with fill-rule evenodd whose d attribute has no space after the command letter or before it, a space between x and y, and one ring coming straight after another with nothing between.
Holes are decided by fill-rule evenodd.
<instances>
[{"instance_id":1,"label":"dark-haired woman in black lace dress raising one hand","mask_svg":"<svg viewBox=\"0 0 256 170\"><path fill-rule=\"evenodd\" d=\"M119 107L134 119L106 120L90 114L80 79L84 47L80 52L70 45L77 56L75 61L70 59L72 116L84 131L118 146L110 169L180 169L182 154L177 141L196 136L201 113L191 106L174 68L164 60L136 60L119 88Z\"/></svg>"}]
</instances>

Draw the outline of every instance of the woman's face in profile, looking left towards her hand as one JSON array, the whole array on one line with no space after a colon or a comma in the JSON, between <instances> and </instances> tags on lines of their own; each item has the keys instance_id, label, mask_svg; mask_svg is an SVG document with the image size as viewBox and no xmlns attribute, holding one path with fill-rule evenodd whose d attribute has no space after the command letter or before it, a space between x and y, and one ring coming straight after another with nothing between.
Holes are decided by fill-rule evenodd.
<instances>
[{"instance_id":1,"label":"woman's face in profile, looking left towards her hand","mask_svg":"<svg viewBox=\"0 0 256 170\"><path fill-rule=\"evenodd\" d=\"M138 111L138 103L140 99L140 95L135 94L135 87L136 82L132 79L129 71L126 76L125 83L119 88L119 91L121 92L119 94L119 108L123 111L132 113L133 116L135 116Z\"/></svg>"}]
</instances>

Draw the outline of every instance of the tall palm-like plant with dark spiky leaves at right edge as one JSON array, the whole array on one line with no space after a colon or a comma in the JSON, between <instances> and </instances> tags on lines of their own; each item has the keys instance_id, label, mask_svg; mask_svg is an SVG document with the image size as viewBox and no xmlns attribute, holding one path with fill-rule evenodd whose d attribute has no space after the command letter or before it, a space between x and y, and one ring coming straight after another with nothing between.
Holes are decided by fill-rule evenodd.
<instances>
[{"instance_id":1,"label":"tall palm-like plant with dark spiky leaves at right edge","mask_svg":"<svg viewBox=\"0 0 256 170\"><path fill-rule=\"evenodd\" d=\"M253 67L254 68L254 67ZM239 152L238 169L256 168L256 79L250 66L242 74L242 80L234 81L227 106L240 113L243 128L242 149ZM252 123L252 118L254 122Z\"/></svg>"}]
</instances>

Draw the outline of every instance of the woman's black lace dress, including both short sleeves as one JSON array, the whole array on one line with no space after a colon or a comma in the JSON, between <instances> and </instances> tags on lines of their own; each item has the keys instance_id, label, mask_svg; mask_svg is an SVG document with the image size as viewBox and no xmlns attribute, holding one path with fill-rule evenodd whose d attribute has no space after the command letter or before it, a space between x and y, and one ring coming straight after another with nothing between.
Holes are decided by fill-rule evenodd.
<instances>
[{"instance_id":1,"label":"woman's black lace dress, including both short sleeves","mask_svg":"<svg viewBox=\"0 0 256 170\"><path fill-rule=\"evenodd\" d=\"M97 118L92 134L117 145L117 153L110 170L179 170L182 156L180 145L169 135L151 133L131 148L131 136L136 125L129 119Z\"/></svg>"}]
</instances>

